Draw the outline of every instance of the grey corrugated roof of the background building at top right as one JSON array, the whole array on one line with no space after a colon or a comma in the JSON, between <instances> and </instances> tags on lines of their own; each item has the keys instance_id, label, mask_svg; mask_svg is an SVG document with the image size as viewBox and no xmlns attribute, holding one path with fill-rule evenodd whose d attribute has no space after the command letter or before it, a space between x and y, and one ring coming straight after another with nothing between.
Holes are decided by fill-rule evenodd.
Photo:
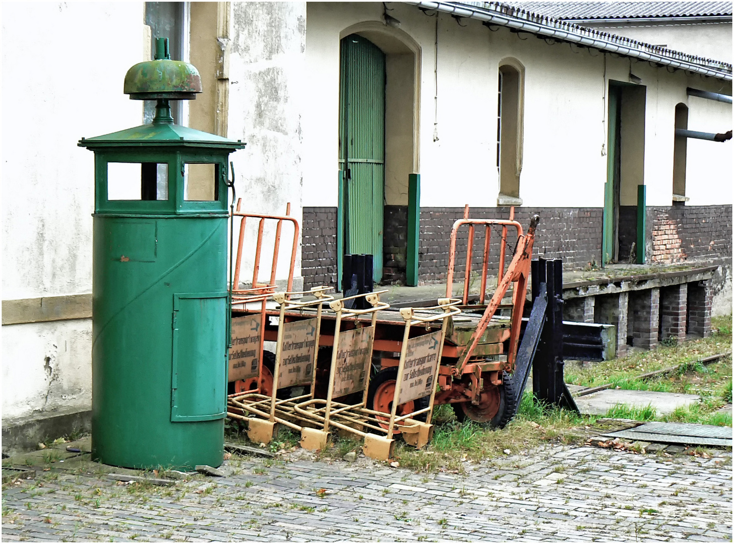
<instances>
[{"instance_id":1,"label":"grey corrugated roof of the background building at top right","mask_svg":"<svg viewBox=\"0 0 734 544\"><path fill-rule=\"evenodd\" d=\"M731 2L508 1L506 3L520 10L568 21L732 15Z\"/></svg>"}]
</instances>

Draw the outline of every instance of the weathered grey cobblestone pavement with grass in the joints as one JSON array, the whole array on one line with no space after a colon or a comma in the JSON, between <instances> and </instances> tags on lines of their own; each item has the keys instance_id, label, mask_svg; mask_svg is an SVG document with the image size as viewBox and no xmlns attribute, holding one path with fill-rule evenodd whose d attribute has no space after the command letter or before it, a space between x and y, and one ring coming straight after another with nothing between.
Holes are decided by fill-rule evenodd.
<instances>
[{"instance_id":1,"label":"weathered grey cobblestone pavement with grass in the joints","mask_svg":"<svg viewBox=\"0 0 734 544\"><path fill-rule=\"evenodd\" d=\"M4 486L2 538L731 541L731 458L546 446L415 474L363 458L244 457L226 477L172 487L121 485L107 475L119 469L67 459Z\"/></svg>"}]
</instances>

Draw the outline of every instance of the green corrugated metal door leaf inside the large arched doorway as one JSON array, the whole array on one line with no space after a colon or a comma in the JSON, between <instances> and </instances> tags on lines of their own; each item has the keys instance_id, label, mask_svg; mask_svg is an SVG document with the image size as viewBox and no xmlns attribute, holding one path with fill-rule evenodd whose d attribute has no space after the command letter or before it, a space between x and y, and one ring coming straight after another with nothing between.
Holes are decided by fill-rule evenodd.
<instances>
[{"instance_id":1,"label":"green corrugated metal door leaf inside the large arched doorway","mask_svg":"<svg viewBox=\"0 0 734 544\"><path fill-rule=\"evenodd\" d=\"M351 34L341 40L339 169L343 172L344 247L374 256L374 281L382 279L385 193L385 54Z\"/></svg>"}]
</instances>

